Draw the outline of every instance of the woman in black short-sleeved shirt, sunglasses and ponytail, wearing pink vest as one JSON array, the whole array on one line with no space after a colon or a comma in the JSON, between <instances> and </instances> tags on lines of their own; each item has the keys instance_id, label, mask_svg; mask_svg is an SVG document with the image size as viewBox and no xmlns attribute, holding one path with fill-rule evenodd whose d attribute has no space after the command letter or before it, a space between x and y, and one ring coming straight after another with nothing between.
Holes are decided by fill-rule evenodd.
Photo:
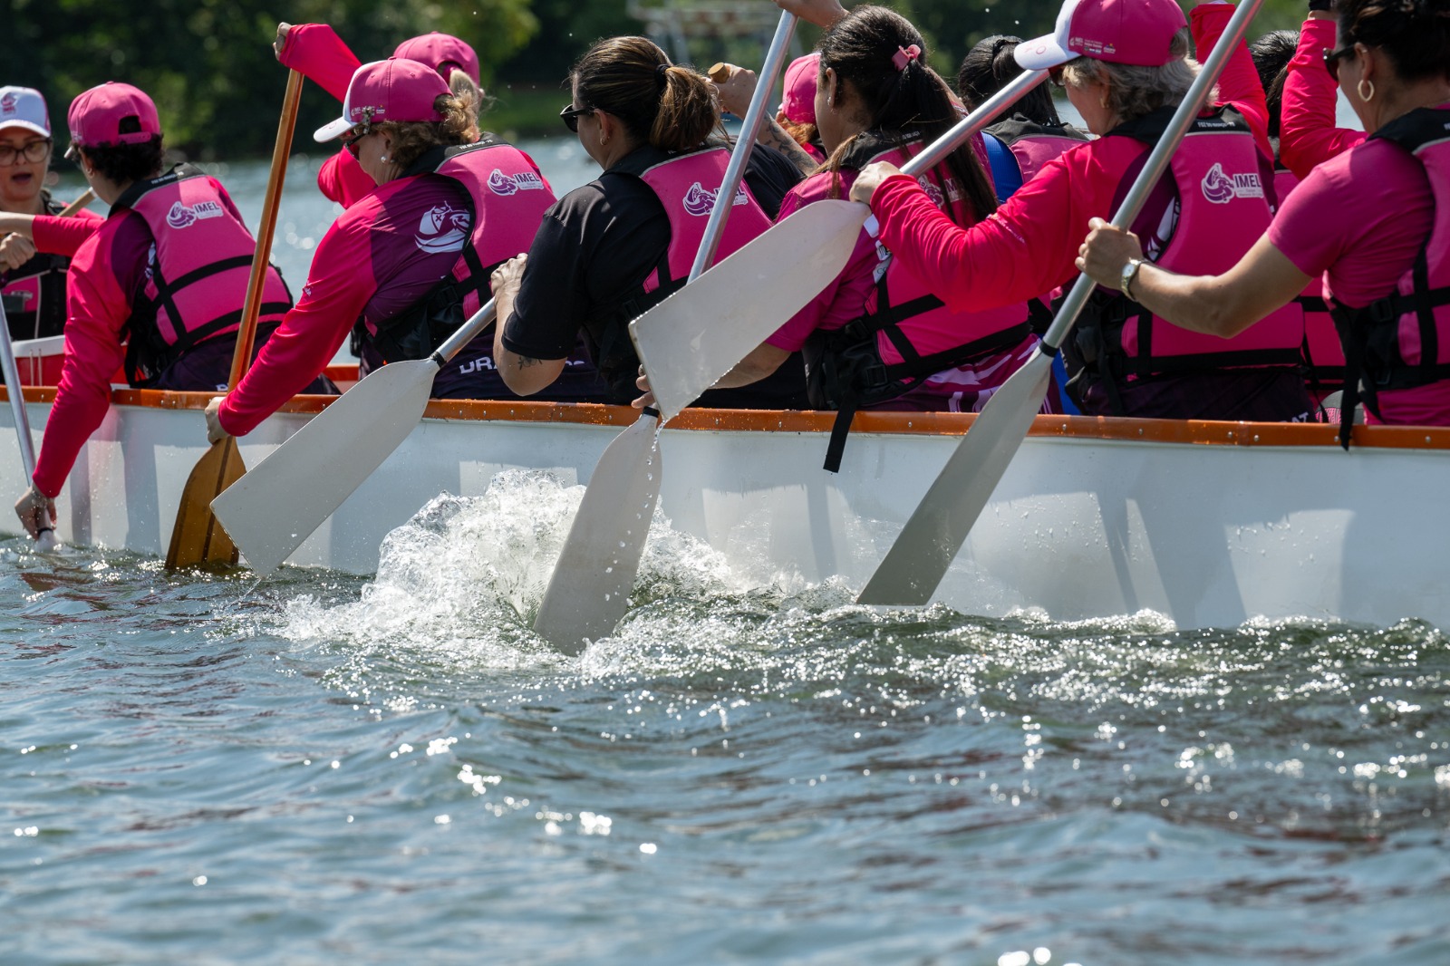
<instances>
[{"instance_id":1,"label":"woman in black short-sleeved shirt, sunglasses and ponytail, wearing pink vest","mask_svg":"<svg viewBox=\"0 0 1450 966\"><path fill-rule=\"evenodd\" d=\"M684 284L729 152L709 81L645 38L594 44L570 80L560 117L605 171L550 209L526 260L494 273L494 358L510 389L534 395L564 370L583 332L609 399L628 403L639 358L625 326ZM784 155L755 145L718 258L766 231L799 180ZM798 363L700 405L798 409L805 376Z\"/></svg>"}]
</instances>

